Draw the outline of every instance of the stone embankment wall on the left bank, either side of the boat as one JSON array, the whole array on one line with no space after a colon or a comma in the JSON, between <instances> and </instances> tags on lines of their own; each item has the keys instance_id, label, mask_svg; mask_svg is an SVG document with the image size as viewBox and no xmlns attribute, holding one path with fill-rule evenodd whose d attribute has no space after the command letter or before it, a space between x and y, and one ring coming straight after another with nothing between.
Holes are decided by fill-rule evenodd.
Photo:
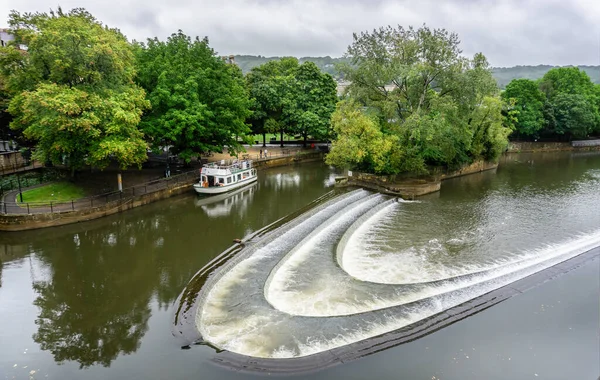
<instances>
[{"instance_id":1,"label":"stone embankment wall on the left bank, either side of the boat","mask_svg":"<svg viewBox=\"0 0 600 380\"><path fill-rule=\"evenodd\" d=\"M294 155L272 157L254 162L258 170L277 166L293 165L322 161L323 153L318 151L298 152ZM92 200L84 202L72 201L65 204L36 209L19 207L16 202L2 202L0 214L0 231L24 231L46 227L55 227L65 224L85 222L109 215L131 210L140 206L154 203L159 200L171 198L192 191L192 185L198 181L196 171L184 173L179 176L154 181L150 186L154 189L148 191L148 186L142 184L137 187L125 189L123 192L100 197L95 204ZM137 189L137 192L136 192ZM13 194L7 196L14 197ZM87 203L86 203L87 202ZM77 206L77 207L76 207Z\"/></svg>"}]
</instances>

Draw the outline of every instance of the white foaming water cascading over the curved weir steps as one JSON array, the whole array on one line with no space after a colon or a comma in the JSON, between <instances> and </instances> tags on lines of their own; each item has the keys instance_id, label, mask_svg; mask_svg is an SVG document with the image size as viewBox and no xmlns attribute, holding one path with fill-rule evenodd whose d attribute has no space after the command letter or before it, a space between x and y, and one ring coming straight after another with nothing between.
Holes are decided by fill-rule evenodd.
<instances>
[{"instance_id":1,"label":"white foaming water cascading over the curved weir steps","mask_svg":"<svg viewBox=\"0 0 600 380\"><path fill-rule=\"evenodd\" d=\"M380 238L406 207L358 190L249 244L202 289L202 337L254 357L312 355L405 327L600 245L600 231L592 231L448 266L428 255L445 249L438 239L398 252Z\"/></svg>"}]
</instances>

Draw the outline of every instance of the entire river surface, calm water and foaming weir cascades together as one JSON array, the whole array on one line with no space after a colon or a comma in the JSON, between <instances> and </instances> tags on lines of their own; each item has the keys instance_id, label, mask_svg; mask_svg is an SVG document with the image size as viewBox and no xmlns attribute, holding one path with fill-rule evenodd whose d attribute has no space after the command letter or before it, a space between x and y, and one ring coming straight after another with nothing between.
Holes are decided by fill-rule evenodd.
<instances>
[{"instance_id":1,"label":"entire river surface, calm water and foaming weir cascades together","mask_svg":"<svg viewBox=\"0 0 600 380\"><path fill-rule=\"evenodd\" d=\"M332 191L324 165L275 168L92 222L0 235L0 379L257 377L181 349L178 296L232 244ZM203 288L212 345L303 357L385 333L600 245L600 154L506 156L418 202L327 195ZM410 343L312 378L594 379L598 259ZM307 376L307 375L302 375Z\"/></svg>"}]
</instances>

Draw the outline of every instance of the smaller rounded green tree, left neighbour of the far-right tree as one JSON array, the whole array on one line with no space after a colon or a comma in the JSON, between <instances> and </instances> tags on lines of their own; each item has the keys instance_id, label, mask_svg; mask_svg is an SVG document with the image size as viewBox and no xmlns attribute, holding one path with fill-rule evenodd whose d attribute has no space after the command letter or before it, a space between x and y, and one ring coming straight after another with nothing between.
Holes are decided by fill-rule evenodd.
<instances>
[{"instance_id":1,"label":"smaller rounded green tree, left neighbour of the far-right tree","mask_svg":"<svg viewBox=\"0 0 600 380\"><path fill-rule=\"evenodd\" d=\"M537 83L529 79L514 79L502 92L502 98L507 102L514 100L514 109L517 111L516 132L538 137L539 131L544 127L546 96Z\"/></svg>"}]
</instances>

